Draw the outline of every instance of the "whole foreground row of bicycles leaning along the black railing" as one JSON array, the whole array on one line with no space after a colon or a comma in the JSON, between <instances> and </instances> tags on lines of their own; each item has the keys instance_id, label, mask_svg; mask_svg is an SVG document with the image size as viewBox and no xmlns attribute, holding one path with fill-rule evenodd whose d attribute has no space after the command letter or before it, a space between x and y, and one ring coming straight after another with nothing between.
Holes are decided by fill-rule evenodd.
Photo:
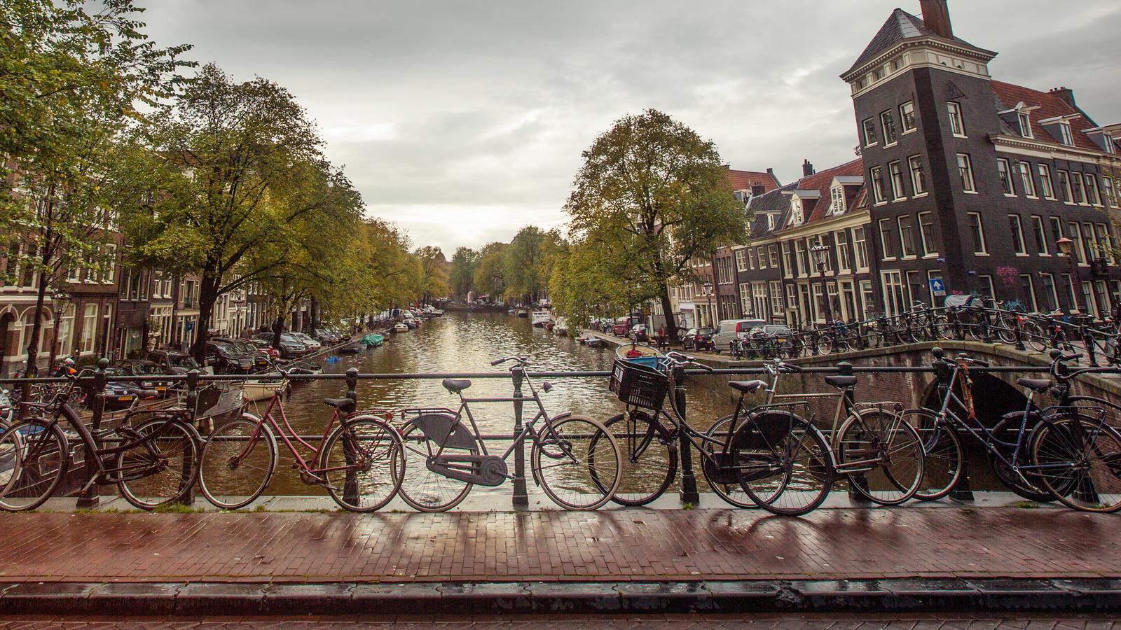
<instances>
[{"instance_id":1,"label":"whole foreground row of bicycles leaning along the black railing","mask_svg":"<svg viewBox=\"0 0 1121 630\"><path fill-rule=\"evenodd\" d=\"M825 392L782 392L782 379L809 376L773 359L765 363L766 380L728 382L738 395L734 411L700 430L680 402L688 378L712 369L678 352L624 346L610 389L626 410L603 423L550 415L543 395L553 386L530 378L528 359L509 356L493 364L509 365L528 393L518 388L510 397L475 398L465 393L470 380L445 379L443 387L460 399L455 409L360 410L353 397L327 398L331 415L317 444L293 429L281 388L263 413L219 421L205 437L189 409L154 411L94 433L70 404L89 376L76 372L52 400L26 402L24 419L0 434L0 509L35 509L64 483L71 492L115 484L142 509L183 501L195 488L219 508L244 508L268 487L282 445L300 479L344 509L374 511L400 497L417 510L443 511L474 485L513 479L509 460L529 442L532 480L566 509L650 503L674 482L682 450L692 448L728 503L800 516L840 482L884 506L942 499L962 478L963 442L975 441L997 478L1026 499L1119 511L1121 434L1110 413L1117 406L1074 396L1072 380L1092 368L1072 368L1075 353L1051 352L1050 378L1019 379L1027 405L995 426L982 423L973 405L970 371L986 364L935 349L936 408L858 401L859 379L844 372L824 377ZM1044 396L1053 404L1044 405ZM818 399L835 400L831 419L810 413ZM471 409L488 402L530 410L501 452L488 450ZM86 470L75 481L68 471L78 460Z\"/></svg>"}]
</instances>

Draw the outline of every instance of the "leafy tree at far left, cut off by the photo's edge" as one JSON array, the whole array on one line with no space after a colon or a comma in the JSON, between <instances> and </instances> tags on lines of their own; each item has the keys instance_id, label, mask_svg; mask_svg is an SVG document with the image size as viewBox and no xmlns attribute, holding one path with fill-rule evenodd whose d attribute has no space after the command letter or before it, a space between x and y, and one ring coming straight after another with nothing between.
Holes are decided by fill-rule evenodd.
<instances>
[{"instance_id":1,"label":"leafy tree at far left, cut off by the photo's edge","mask_svg":"<svg viewBox=\"0 0 1121 630\"><path fill-rule=\"evenodd\" d=\"M108 272L115 209L133 176L119 168L126 128L140 124L139 104L159 108L189 65L188 46L145 41L130 0L95 12L76 0L10 0L0 4L0 233L13 234L7 258L37 280L36 317L27 336L27 373L37 370L44 303L64 288L68 270ZM4 170L13 165L15 170Z\"/></svg>"}]
</instances>

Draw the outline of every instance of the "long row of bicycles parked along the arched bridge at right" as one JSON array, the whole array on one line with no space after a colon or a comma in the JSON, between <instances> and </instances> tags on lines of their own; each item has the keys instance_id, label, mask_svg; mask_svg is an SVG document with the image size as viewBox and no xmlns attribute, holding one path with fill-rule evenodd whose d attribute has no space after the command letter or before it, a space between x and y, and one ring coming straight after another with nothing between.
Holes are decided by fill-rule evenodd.
<instances>
[{"instance_id":1,"label":"long row of bicycles parked along the arched bridge at right","mask_svg":"<svg viewBox=\"0 0 1121 630\"><path fill-rule=\"evenodd\" d=\"M1121 330L1113 318L1092 321L1062 311L1026 313L1018 303L979 295L948 299L944 308L916 302L899 315L873 314L862 322L837 319L816 327L794 328L760 326L732 340L728 350L736 359L796 359L966 337L986 343L1022 344L1025 350L1037 352L1093 350L1094 362L1121 365Z\"/></svg>"}]
</instances>

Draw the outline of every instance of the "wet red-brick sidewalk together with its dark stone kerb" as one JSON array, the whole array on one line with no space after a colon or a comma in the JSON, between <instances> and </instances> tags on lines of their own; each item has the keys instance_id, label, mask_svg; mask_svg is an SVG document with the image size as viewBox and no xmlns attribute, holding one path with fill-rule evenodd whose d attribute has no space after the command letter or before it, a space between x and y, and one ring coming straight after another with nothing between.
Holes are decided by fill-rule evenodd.
<instances>
[{"instance_id":1,"label":"wet red-brick sidewalk together with its dark stone kerb","mask_svg":"<svg viewBox=\"0 0 1121 630\"><path fill-rule=\"evenodd\" d=\"M1113 611L1118 522L919 506L3 515L0 612Z\"/></svg>"}]
</instances>

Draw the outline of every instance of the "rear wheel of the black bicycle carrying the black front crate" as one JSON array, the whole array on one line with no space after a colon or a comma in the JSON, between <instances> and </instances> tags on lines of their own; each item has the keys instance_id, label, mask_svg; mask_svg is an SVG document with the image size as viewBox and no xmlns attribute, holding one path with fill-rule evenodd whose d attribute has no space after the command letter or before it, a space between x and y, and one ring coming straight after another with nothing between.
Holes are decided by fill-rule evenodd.
<instances>
[{"instance_id":1,"label":"rear wheel of the black bicycle carrying the black front crate","mask_svg":"<svg viewBox=\"0 0 1121 630\"><path fill-rule=\"evenodd\" d=\"M735 448L738 460L752 463L740 469L740 487L768 512L807 515L825 502L833 489L833 456L825 437L794 414L753 416L736 430Z\"/></svg>"}]
</instances>

